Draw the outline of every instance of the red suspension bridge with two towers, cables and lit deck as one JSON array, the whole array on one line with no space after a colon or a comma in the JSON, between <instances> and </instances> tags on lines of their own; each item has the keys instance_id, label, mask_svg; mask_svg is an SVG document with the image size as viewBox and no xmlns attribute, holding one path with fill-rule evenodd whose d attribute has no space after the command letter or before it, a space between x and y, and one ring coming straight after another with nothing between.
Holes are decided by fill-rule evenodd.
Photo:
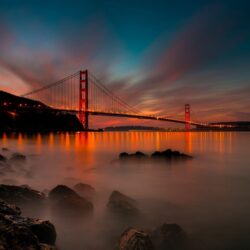
<instances>
[{"instance_id":1,"label":"red suspension bridge with two towers, cables and lit deck","mask_svg":"<svg viewBox=\"0 0 250 250\"><path fill-rule=\"evenodd\" d=\"M76 114L85 130L89 129L90 115L175 122L184 124L186 130L190 130L191 125L209 126L191 120L189 104L185 105L183 119L144 114L111 92L88 70L78 71L60 81L26 93L22 97L40 101L54 111Z\"/></svg>"}]
</instances>

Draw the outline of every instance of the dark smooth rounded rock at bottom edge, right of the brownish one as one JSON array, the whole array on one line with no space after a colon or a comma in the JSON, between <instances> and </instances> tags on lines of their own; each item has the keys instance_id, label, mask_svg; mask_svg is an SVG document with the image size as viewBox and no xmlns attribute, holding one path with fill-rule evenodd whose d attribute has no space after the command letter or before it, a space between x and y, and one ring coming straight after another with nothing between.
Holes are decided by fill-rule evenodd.
<instances>
[{"instance_id":1,"label":"dark smooth rounded rock at bottom edge, right of the brownish one","mask_svg":"<svg viewBox=\"0 0 250 250\"><path fill-rule=\"evenodd\" d=\"M185 249L186 234L177 224L163 224L150 234L150 238L157 250Z\"/></svg>"}]
</instances>

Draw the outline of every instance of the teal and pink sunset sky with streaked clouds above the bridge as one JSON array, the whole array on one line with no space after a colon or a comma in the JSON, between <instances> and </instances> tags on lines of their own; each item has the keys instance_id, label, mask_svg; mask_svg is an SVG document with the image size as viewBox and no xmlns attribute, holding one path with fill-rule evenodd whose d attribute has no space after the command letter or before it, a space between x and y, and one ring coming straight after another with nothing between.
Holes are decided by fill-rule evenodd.
<instances>
[{"instance_id":1,"label":"teal and pink sunset sky with streaked clouds above the bridge","mask_svg":"<svg viewBox=\"0 0 250 250\"><path fill-rule=\"evenodd\" d=\"M199 121L250 120L249 13L247 0L0 0L0 89L89 69L146 113L190 103Z\"/></svg>"}]
</instances>

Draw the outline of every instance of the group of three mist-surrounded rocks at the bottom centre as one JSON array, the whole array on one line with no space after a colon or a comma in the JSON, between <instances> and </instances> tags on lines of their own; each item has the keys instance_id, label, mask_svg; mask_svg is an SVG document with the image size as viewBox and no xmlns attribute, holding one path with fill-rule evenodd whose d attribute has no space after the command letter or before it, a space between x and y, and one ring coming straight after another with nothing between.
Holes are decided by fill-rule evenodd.
<instances>
[{"instance_id":1,"label":"group of three mist-surrounded rocks at the bottom centre","mask_svg":"<svg viewBox=\"0 0 250 250\"><path fill-rule=\"evenodd\" d=\"M136 201L119 191L111 193L107 208L123 218L141 215ZM184 230L178 224L164 223L147 231L128 228L120 236L116 250L184 250L186 247L187 236Z\"/></svg>"}]
</instances>

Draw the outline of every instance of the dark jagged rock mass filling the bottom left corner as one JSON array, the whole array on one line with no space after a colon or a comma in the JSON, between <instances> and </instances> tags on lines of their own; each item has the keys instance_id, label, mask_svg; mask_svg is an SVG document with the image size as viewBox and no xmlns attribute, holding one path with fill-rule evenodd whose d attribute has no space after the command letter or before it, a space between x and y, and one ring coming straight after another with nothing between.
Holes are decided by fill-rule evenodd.
<instances>
[{"instance_id":1,"label":"dark jagged rock mass filling the bottom left corner","mask_svg":"<svg viewBox=\"0 0 250 250\"><path fill-rule=\"evenodd\" d=\"M24 218L20 214L19 208L0 202L0 249L56 249L49 246L56 241L55 227L49 221Z\"/></svg>"}]
</instances>

